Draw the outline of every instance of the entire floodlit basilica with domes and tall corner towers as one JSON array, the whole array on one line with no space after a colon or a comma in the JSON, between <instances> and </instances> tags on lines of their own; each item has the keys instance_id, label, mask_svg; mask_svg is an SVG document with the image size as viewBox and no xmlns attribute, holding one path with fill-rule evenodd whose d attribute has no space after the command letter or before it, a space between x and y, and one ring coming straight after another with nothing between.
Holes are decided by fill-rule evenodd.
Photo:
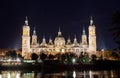
<instances>
[{"instance_id":1,"label":"entire floodlit basilica with domes and tall corner towers","mask_svg":"<svg viewBox=\"0 0 120 78\"><path fill-rule=\"evenodd\" d=\"M88 27L88 36L83 28L81 41L78 41L76 36L73 42L71 42L70 38L65 40L59 28L58 35L54 40L50 38L47 43L45 37L43 37L42 42L39 43L35 28L33 29L32 37L30 36L31 32L27 17L22 30L22 56L24 59L30 59L32 53L39 55L41 52L53 55L57 53L73 52L77 56L79 56L81 52L87 52L88 54L96 53L96 27L92 17Z\"/></svg>"}]
</instances>

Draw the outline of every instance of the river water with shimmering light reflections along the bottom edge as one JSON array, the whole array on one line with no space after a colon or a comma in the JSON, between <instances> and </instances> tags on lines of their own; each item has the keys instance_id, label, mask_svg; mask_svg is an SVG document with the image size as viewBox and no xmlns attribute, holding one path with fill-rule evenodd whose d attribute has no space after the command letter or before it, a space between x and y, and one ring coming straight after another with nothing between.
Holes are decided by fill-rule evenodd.
<instances>
[{"instance_id":1,"label":"river water with shimmering light reflections along the bottom edge","mask_svg":"<svg viewBox=\"0 0 120 78\"><path fill-rule=\"evenodd\" d=\"M120 78L120 71L1 71L0 78Z\"/></svg>"}]
</instances>

